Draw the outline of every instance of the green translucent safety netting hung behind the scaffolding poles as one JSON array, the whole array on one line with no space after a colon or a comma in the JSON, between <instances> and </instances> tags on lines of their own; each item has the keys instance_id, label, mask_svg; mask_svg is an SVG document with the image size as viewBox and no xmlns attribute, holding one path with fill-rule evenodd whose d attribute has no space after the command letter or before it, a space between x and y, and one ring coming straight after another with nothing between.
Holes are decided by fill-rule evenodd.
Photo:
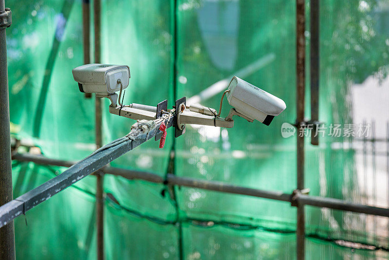
<instances>
[{"instance_id":1,"label":"green translucent safety netting hung behind the scaffolding poles","mask_svg":"<svg viewBox=\"0 0 389 260\"><path fill-rule=\"evenodd\" d=\"M47 157L80 160L94 149L94 99L79 92L71 74L83 63L81 0L6 5L13 13L7 29L11 132ZM103 0L102 61L130 67L125 103L168 99L170 107L238 74L287 105L269 127L237 118L232 129L188 126L175 140L169 130L164 149L148 141L112 166L291 193L296 138L283 138L281 125L296 119L295 13L291 0ZM320 16L319 119L353 123L350 86L388 72L389 2L321 0ZM201 103L216 108L219 100L220 93L207 92ZM134 123L109 114L108 102L104 143ZM309 108L308 90L307 118ZM336 145L351 142L325 136L313 147L306 138L310 194L366 202L354 150ZM14 197L63 170L14 161ZM111 195L105 201L107 259L295 259L296 208L288 203L187 187L175 187L172 199L162 184L113 175L104 185ZM18 217L17 257L95 259L94 193L90 176ZM365 215L307 207L306 222L307 259L389 256L388 238L372 232ZM355 243L365 246L351 248Z\"/></svg>"}]
</instances>

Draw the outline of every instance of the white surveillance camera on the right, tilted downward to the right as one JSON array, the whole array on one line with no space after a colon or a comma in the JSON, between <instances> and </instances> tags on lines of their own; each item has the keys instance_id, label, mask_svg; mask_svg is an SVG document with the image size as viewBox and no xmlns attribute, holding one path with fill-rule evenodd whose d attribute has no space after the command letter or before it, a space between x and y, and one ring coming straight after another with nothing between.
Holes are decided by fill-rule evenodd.
<instances>
[{"instance_id":1,"label":"white surveillance camera on the right, tilted downward to the right","mask_svg":"<svg viewBox=\"0 0 389 260\"><path fill-rule=\"evenodd\" d=\"M250 122L255 119L268 126L274 116L279 115L286 108L282 99L236 76L231 79L228 90L227 100L234 109L231 109L226 120L236 114Z\"/></svg>"}]
</instances>

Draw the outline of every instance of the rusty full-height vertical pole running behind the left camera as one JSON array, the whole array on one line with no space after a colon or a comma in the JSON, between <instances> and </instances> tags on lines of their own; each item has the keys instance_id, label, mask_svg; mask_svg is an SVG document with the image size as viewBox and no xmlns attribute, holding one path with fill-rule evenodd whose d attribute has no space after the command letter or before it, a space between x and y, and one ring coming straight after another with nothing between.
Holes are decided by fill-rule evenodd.
<instances>
[{"instance_id":1,"label":"rusty full-height vertical pole running behind the left camera","mask_svg":"<svg viewBox=\"0 0 389 260\"><path fill-rule=\"evenodd\" d=\"M95 0L94 14L94 62L101 62L101 0ZM102 147L102 111L101 98L95 97L95 130L96 147ZM96 175L96 226L97 226L97 259L104 259L104 201L103 201L104 173Z\"/></svg>"}]
</instances>

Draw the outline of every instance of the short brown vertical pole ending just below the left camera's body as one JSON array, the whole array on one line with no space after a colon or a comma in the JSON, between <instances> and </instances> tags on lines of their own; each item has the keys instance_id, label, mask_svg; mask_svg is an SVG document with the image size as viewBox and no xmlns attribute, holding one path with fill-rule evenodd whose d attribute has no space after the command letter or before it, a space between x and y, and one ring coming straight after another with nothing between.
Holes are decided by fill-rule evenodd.
<instances>
[{"instance_id":1,"label":"short brown vertical pole ending just below the left camera's body","mask_svg":"<svg viewBox=\"0 0 389 260\"><path fill-rule=\"evenodd\" d=\"M84 64L90 63L90 11L89 0L82 1L82 39L84 49ZM85 93L85 97L92 97L91 93Z\"/></svg>"}]
</instances>

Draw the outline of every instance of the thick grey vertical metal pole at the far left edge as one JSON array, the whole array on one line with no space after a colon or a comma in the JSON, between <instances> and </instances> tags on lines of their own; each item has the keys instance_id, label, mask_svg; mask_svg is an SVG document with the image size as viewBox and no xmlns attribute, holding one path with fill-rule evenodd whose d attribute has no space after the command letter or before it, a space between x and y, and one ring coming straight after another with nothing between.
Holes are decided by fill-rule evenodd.
<instances>
[{"instance_id":1,"label":"thick grey vertical metal pole at the far left edge","mask_svg":"<svg viewBox=\"0 0 389 260\"><path fill-rule=\"evenodd\" d=\"M0 13L5 11L0 0ZM13 200L5 27L0 27L0 205ZM0 228L0 259L15 259L14 221Z\"/></svg>"}]
</instances>

